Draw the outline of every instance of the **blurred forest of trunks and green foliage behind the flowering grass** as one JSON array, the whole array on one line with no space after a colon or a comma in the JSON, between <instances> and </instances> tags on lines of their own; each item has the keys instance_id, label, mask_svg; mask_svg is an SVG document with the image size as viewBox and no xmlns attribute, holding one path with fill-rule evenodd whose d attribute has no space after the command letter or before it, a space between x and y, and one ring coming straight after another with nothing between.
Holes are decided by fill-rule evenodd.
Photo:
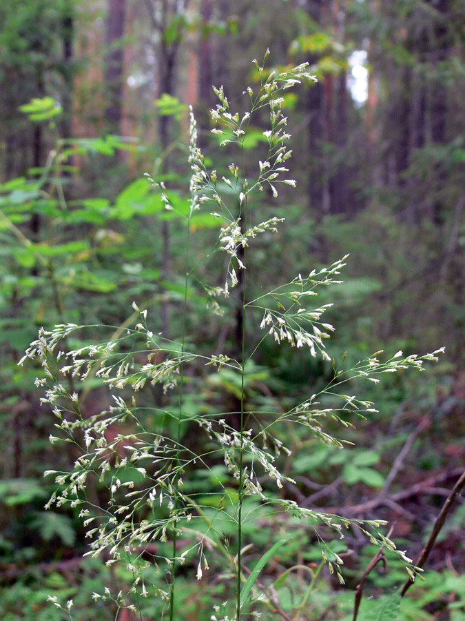
<instances>
[{"instance_id":1,"label":"blurred forest of trunks and green foliage behind the flowering grass","mask_svg":"<svg viewBox=\"0 0 465 621\"><path fill-rule=\"evenodd\" d=\"M17 362L39 326L121 326L133 299L152 309L154 330L176 332L179 222L143 173L177 188L183 205L187 105L209 157L211 86L229 99L254 88L251 60L267 48L270 68L307 61L318 83L285 99L298 185L278 199L286 222L260 250L262 279L350 253L332 294L331 356L446 346L428 375L389 377L369 394L380 413L360 426L358 451L347 462L321 451L301 459L289 495L397 520L394 538L415 555L465 454L463 0L14 0L1 3L0 28L1 619L61 619L45 603L52 592L82 597L76 619L91 618L86 606L92 619L112 618L83 591L123 578L82 560L77 514L43 509L53 489L43 471L72 455L50 446L37 373ZM260 137L257 126L251 154ZM211 220L198 219L200 236ZM189 324L216 349L200 304ZM226 350L234 334L234 324L221 333ZM269 345L250 394L296 394L327 373L307 355L293 361ZM205 400L234 400L234 382L219 377ZM87 408L104 399L97 389ZM411 618L465 619L464 509L442 533ZM353 584L367 550L348 564ZM197 588L185 618L200 621L209 592Z\"/></svg>"}]
</instances>

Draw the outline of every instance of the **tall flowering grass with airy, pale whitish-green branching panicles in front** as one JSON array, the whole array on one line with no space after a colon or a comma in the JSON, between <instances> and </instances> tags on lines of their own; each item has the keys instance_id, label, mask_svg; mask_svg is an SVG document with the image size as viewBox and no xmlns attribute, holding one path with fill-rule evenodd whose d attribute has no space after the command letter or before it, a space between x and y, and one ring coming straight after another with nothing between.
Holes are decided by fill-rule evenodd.
<instances>
[{"instance_id":1,"label":"tall flowering grass with airy, pale whitish-green branching panicles in front","mask_svg":"<svg viewBox=\"0 0 465 621\"><path fill-rule=\"evenodd\" d=\"M215 564L222 559L218 580L227 584L232 580L234 588L227 593L229 599L211 611L212 620L248 618L252 597L262 600L262 606L278 611L283 618L297 621L309 591L293 611L286 613L259 580L260 571L291 538L292 531L281 533L255 568L249 569L244 560L244 526L254 515L260 515L260 519L268 515L270 523L276 515L299 518L302 527L312 531L319 542L322 564L327 564L341 583L342 559L331 551L327 533L323 536L328 529L334 538L344 538L347 529L360 529L371 542L397 554L409 575L414 576L416 571L404 552L395 549L382 533L384 522L350 520L315 511L299 506L290 493L278 493L287 482L293 482L291 473L280 469L280 454L289 452L283 429L298 426L309 437L343 449L346 443L324 426L325 419L331 417L342 426L349 426L355 415L366 417L376 410L372 402L344 394L342 387L352 386L357 377L378 382L382 373L406 368L422 371L424 361L437 359L441 350L420 357L398 352L382 358L382 352L377 352L348 369L344 368L344 360L336 364L326 348L334 330L324 320L331 304L319 305L316 298L320 288L340 282L347 257L327 268L298 274L291 282L278 283L265 294L251 293L256 291L254 282L262 278L260 270L249 260L254 244L260 236L276 233L285 221L280 214L270 214L263 221L257 219L258 196L266 191L277 197L280 185L296 185L288 175L291 150L290 135L285 131L287 117L282 112L283 95L302 81L316 81L307 63L271 72L265 71L265 63L254 63L258 81L243 94L248 103L246 112L231 109L223 86L214 89L218 104L211 111L215 125L211 131L220 135L220 146L227 147L232 154L236 152L227 170L220 172L218 167L207 166L197 146L196 121L190 112L190 200L187 213L179 213L185 222L180 335L176 338L156 332L151 320L156 309L145 309L136 301L132 304L138 317L135 325L129 324L124 330L102 326L110 337L102 342L93 338L90 344L70 351L61 350L65 339L76 341L80 335L94 333L96 326L63 323L51 330L41 328L38 339L20 362L23 364L27 358L41 362L42 375L37 384L46 387L42 402L53 408L58 430L50 441L70 443L63 446L68 446L68 450L74 447L76 457L69 471L45 473L53 475L58 485L47 506L78 507L90 540L86 554L101 555L107 565L122 564L129 572L131 584L126 592L116 594L106 589L104 593L94 593L94 599L112 598L118 609L129 607L138 611L141 619L141 598L148 597L165 602L164 618L183 618L177 595L180 573L203 580L210 575L212 559ZM261 159L247 167L245 140L252 119L264 109L269 112L269 127L263 131L265 148ZM176 210L172 194L163 183L150 177L147 182L161 192L168 210ZM202 281L196 271L199 259L191 254L193 223L196 215L205 210L218 219L218 237L207 257L214 253L227 257L221 286ZM194 287L195 295L203 295L207 300L218 329L221 322L227 321L228 313L234 311L225 298L232 299L239 291L236 307L241 312L242 332L236 347L238 356L231 351L203 353L200 345L194 346L195 337L187 334L186 329L189 295ZM112 331L116 332L111 335ZM290 408L258 413L247 402L247 369L264 339L270 338L289 348L289 356L295 349L307 348L312 357L322 357L325 364L332 365L332 380L324 389ZM206 374L222 369L239 378L239 411L221 411L211 404L187 407L189 395L202 393ZM79 379L83 387L99 380L107 386L111 405L95 415L87 415L83 392L66 388L69 377ZM163 400L153 401L149 386L154 385L163 387ZM322 406L325 395L335 405ZM111 429L116 431L109 433ZM196 442L187 441L192 434ZM225 475L215 474L218 464L223 464ZM211 482L208 494L200 485L205 473ZM102 490L98 507L92 505L86 494L87 482L94 477ZM192 567L193 571L189 569ZM154 571L150 570L154 568L158 578L153 580ZM311 580L310 589L319 573L320 570ZM257 586L260 584L261 587ZM62 606L56 599L54 603ZM72 602L63 604L63 610L71 615ZM258 615L254 607L252 611Z\"/></svg>"}]
</instances>

